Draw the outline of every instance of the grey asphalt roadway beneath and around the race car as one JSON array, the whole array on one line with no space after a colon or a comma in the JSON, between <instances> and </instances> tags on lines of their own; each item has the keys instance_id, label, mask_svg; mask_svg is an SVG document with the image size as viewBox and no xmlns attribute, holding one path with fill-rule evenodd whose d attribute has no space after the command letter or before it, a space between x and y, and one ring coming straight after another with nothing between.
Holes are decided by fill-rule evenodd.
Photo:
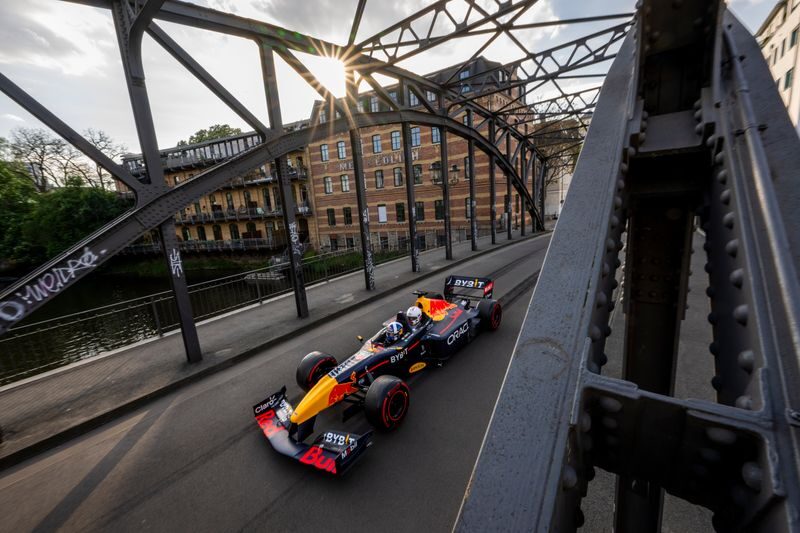
<instances>
[{"instance_id":1,"label":"grey asphalt roadway beneath and around the race car","mask_svg":"<svg viewBox=\"0 0 800 533\"><path fill-rule=\"evenodd\" d=\"M521 242L454 273L494 273L496 297L540 267L549 240ZM441 290L442 279L424 287ZM383 320L413 303L400 293L364 306L114 423L0 474L1 531L449 531L480 448L531 289L443 368L409 381L395 432L343 478L278 455L251 407L322 349L340 360ZM368 429L332 410L316 428Z\"/></svg>"}]
</instances>

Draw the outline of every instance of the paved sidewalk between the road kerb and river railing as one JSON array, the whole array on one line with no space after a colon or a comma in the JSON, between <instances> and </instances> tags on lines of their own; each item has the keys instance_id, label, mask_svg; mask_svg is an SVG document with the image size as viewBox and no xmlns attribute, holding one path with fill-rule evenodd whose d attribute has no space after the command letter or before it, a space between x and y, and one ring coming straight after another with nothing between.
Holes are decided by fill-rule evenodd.
<instances>
[{"instance_id":1,"label":"paved sidewalk between the road kerb and river railing","mask_svg":"<svg viewBox=\"0 0 800 533\"><path fill-rule=\"evenodd\" d=\"M542 234L539 234L542 235ZM530 237L530 235L529 235ZM293 295L238 310L200 323L203 361L189 365L180 332L87 359L0 388L0 468L5 468L203 376L217 372L316 327L333 316L377 300L398 288L413 286L461 262L520 242L518 231L507 240L497 235L453 245L453 261L444 248L420 254L422 272L411 272L408 257L375 268L376 290L364 288L362 271L307 288L310 316L297 318Z\"/></svg>"}]
</instances>

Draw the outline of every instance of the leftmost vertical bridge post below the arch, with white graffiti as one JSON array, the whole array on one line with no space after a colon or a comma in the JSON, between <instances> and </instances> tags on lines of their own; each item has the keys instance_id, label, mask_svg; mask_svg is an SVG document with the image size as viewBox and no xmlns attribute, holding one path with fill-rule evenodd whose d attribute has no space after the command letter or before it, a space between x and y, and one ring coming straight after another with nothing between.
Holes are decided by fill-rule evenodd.
<instances>
[{"instance_id":1,"label":"leftmost vertical bridge post below the arch, with white graffiti","mask_svg":"<svg viewBox=\"0 0 800 533\"><path fill-rule=\"evenodd\" d=\"M186 284L186 274L183 271L178 238L175 236L175 222L170 218L158 226L161 240L161 251L169 265L169 281L172 285L172 294L175 297L175 306L178 308L178 322L181 326L183 347L186 351L186 360L197 363L203 359L200 350L200 340L197 337L197 326L194 323L192 302L189 297L189 287Z\"/></svg>"}]
</instances>

